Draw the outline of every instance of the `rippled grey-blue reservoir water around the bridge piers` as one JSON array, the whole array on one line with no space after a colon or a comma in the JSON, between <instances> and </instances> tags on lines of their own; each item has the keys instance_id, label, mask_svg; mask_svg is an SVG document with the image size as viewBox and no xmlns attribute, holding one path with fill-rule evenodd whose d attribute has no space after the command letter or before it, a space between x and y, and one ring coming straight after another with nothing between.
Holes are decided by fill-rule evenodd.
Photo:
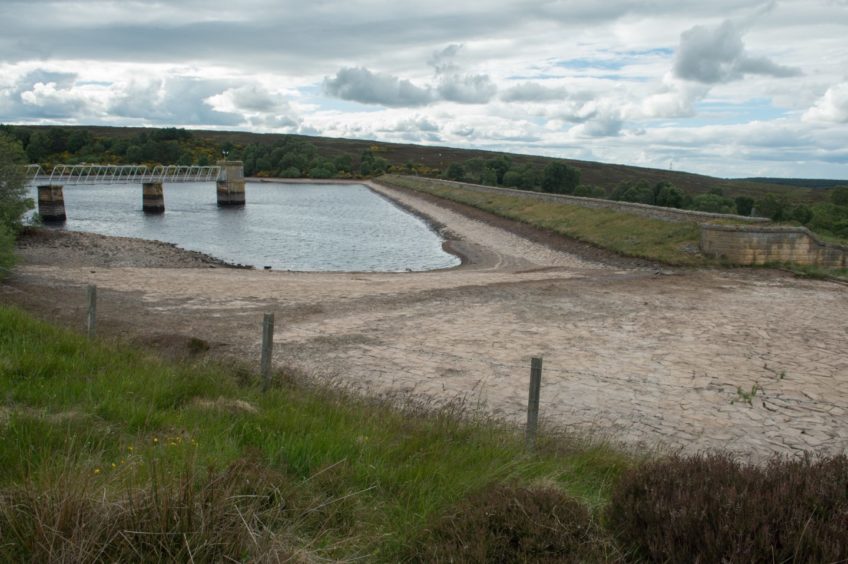
<instances>
[{"instance_id":1,"label":"rippled grey-blue reservoir water around the bridge piers","mask_svg":"<svg viewBox=\"0 0 848 564\"><path fill-rule=\"evenodd\" d=\"M400 272L460 262L427 224L362 185L248 183L243 208L219 208L215 183L166 184L164 192L165 213L146 215L140 184L65 186L64 229L166 241L276 270Z\"/></svg>"}]
</instances>

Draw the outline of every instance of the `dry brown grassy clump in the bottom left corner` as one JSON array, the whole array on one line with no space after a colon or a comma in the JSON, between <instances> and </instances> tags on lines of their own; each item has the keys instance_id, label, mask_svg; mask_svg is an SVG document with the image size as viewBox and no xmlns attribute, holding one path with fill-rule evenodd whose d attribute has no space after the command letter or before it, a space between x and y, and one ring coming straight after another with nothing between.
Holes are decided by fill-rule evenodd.
<instances>
[{"instance_id":1,"label":"dry brown grassy clump in the bottom left corner","mask_svg":"<svg viewBox=\"0 0 848 564\"><path fill-rule=\"evenodd\" d=\"M89 476L66 474L47 490L0 492L4 562L290 561L281 477L239 461L205 478L157 471L142 489L117 499ZM118 489L121 486L112 484Z\"/></svg>"}]
</instances>

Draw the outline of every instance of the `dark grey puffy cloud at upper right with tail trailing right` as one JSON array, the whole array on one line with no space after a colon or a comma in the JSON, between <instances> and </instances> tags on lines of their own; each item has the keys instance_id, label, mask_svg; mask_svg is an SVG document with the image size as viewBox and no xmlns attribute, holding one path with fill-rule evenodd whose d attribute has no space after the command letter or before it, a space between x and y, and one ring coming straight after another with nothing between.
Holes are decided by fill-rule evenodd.
<instances>
[{"instance_id":1,"label":"dark grey puffy cloud at upper right with tail trailing right","mask_svg":"<svg viewBox=\"0 0 848 564\"><path fill-rule=\"evenodd\" d=\"M779 65L766 57L749 55L742 33L729 20L717 27L695 26L680 35L674 76L704 84L738 80L746 74L784 78L800 69Z\"/></svg>"}]
</instances>

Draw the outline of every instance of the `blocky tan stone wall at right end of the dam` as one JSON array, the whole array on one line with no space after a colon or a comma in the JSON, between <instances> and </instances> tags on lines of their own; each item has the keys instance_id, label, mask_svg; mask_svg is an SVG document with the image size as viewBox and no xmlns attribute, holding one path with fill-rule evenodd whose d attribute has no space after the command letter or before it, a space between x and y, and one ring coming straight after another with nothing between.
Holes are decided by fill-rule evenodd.
<instances>
[{"instance_id":1,"label":"blocky tan stone wall at right end of the dam","mask_svg":"<svg viewBox=\"0 0 848 564\"><path fill-rule=\"evenodd\" d=\"M705 224L701 251L735 264L848 266L848 247L825 243L804 227Z\"/></svg>"}]
</instances>

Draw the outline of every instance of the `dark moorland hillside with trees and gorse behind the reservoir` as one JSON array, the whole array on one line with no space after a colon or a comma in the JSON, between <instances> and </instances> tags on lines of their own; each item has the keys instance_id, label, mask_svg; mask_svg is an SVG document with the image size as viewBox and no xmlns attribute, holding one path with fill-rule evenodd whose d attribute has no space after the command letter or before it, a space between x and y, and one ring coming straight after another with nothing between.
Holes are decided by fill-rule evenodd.
<instances>
[{"instance_id":1,"label":"dark moorland hillside with trees and gorse behind the reservoir","mask_svg":"<svg viewBox=\"0 0 848 564\"><path fill-rule=\"evenodd\" d=\"M300 135L106 127L0 126L32 163L214 164L248 176L357 178L391 172L717 213L755 213L845 239L840 181L726 180L658 169ZM793 184L794 182L794 184ZM844 184L844 182L842 182ZM834 209L832 206L841 206Z\"/></svg>"}]
</instances>

